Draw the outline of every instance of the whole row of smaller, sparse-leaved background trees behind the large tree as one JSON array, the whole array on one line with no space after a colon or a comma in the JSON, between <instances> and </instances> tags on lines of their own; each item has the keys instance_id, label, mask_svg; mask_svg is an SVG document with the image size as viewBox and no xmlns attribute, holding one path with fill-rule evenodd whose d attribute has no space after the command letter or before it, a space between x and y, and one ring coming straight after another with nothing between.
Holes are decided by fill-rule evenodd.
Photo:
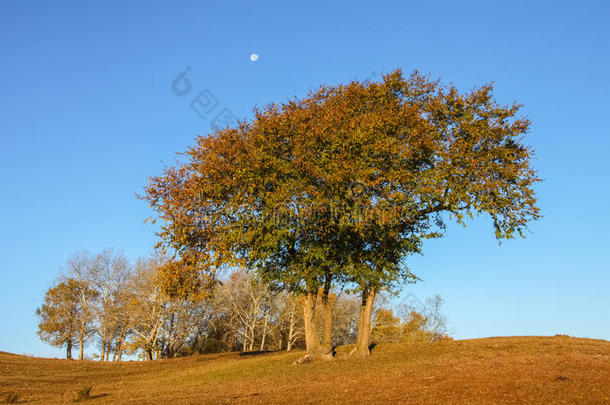
<instances>
[{"instance_id":1,"label":"whole row of smaller, sparse-leaved background trees behind the large tree","mask_svg":"<svg viewBox=\"0 0 610 405\"><path fill-rule=\"evenodd\" d=\"M176 263L159 254L131 263L108 249L72 256L37 309L38 334L72 358L78 347L99 350L96 358L120 361L124 354L145 359L171 358L222 351L292 350L305 347L302 297L278 291L253 274L237 270L204 294L177 294L168 288L168 269ZM211 291L211 292L210 292ZM322 292L321 292L322 293ZM440 297L438 298L440 300ZM358 333L360 300L331 294L334 346L352 344ZM440 301L437 301L440 307ZM394 324L419 316L414 333L434 340L444 334L424 311L398 313L376 309L373 336L378 342L404 340L389 333ZM316 323L323 324L318 314ZM411 322L413 323L413 322ZM412 325L413 326L413 325ZM403 328L404 329L404 328ZM392 337L393 336L393 337ZM400 336L403 336L402 334Z\"/></svg>"}]
</instances>

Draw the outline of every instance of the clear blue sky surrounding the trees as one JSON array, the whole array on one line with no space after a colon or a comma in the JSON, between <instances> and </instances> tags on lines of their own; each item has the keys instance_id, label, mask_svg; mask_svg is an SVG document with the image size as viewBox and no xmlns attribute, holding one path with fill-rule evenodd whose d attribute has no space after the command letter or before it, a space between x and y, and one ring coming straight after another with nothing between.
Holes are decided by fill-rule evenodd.
<instances>
[{"instance_id":1,"label":"clear blue sky surrounding the trees","mask_svg":"<svg viewBox=\"0 0 610 405\"><path fill-rule=\"evenodd\" d=\"M150 252L135 193L212 115L397 67L464 90L494 81L525 105L545 179L527 239L452 226L411 261L424 282L408 291L441 294L458 338L610 339L606 2L124 3L0 5L0 350L63 355L34 316L58 268L81 249ZM205 89L219 104L201 118Z\"/></svg>"}]
</instances>

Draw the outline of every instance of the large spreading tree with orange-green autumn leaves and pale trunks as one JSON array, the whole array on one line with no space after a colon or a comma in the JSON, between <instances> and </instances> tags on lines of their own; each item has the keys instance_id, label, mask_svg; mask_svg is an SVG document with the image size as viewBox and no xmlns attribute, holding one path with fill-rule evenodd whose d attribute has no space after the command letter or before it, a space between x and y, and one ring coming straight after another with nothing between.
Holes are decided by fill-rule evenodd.
<instances>
[{"instance_id":1,"label":"large spreading tree with orange-green autumn leaves and pale trunks","mask_svg":"<svg viewBox=\"0 0 610 405\"><path fill-rule=\"evenodd\" d=\"M538 218L539 179L522 142L529 121L518 110L498 105L489 85L463 94L399 70L379 83L323 86L200 136L143 198L183 269L247 266L302 293L314 358L332 350L332 285L359 291L354 353L368 355L375 295L416 279L405 259L445 221L486 214L501 239Z\"/></svg>"}]
</instances>

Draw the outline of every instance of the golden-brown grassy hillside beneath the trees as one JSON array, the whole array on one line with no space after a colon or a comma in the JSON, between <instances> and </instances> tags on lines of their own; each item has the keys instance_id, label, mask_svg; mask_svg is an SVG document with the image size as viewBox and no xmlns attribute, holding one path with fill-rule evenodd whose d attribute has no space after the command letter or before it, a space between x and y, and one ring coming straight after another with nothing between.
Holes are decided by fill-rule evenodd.
<instances>
[{"instance_id":1,"label":"golden-brown grassy hillside beneath the trees","mask_svg":"<svg viewBox=\"0 0 610 405\"><path fill-rule=\"evenodd\" d=\"M67 403L586 403L610 405L610 342L503 337L380 345L370 359L291 365L301 353L104 364L0 353L0 400Z\"/></svg>"}]
</instances>

